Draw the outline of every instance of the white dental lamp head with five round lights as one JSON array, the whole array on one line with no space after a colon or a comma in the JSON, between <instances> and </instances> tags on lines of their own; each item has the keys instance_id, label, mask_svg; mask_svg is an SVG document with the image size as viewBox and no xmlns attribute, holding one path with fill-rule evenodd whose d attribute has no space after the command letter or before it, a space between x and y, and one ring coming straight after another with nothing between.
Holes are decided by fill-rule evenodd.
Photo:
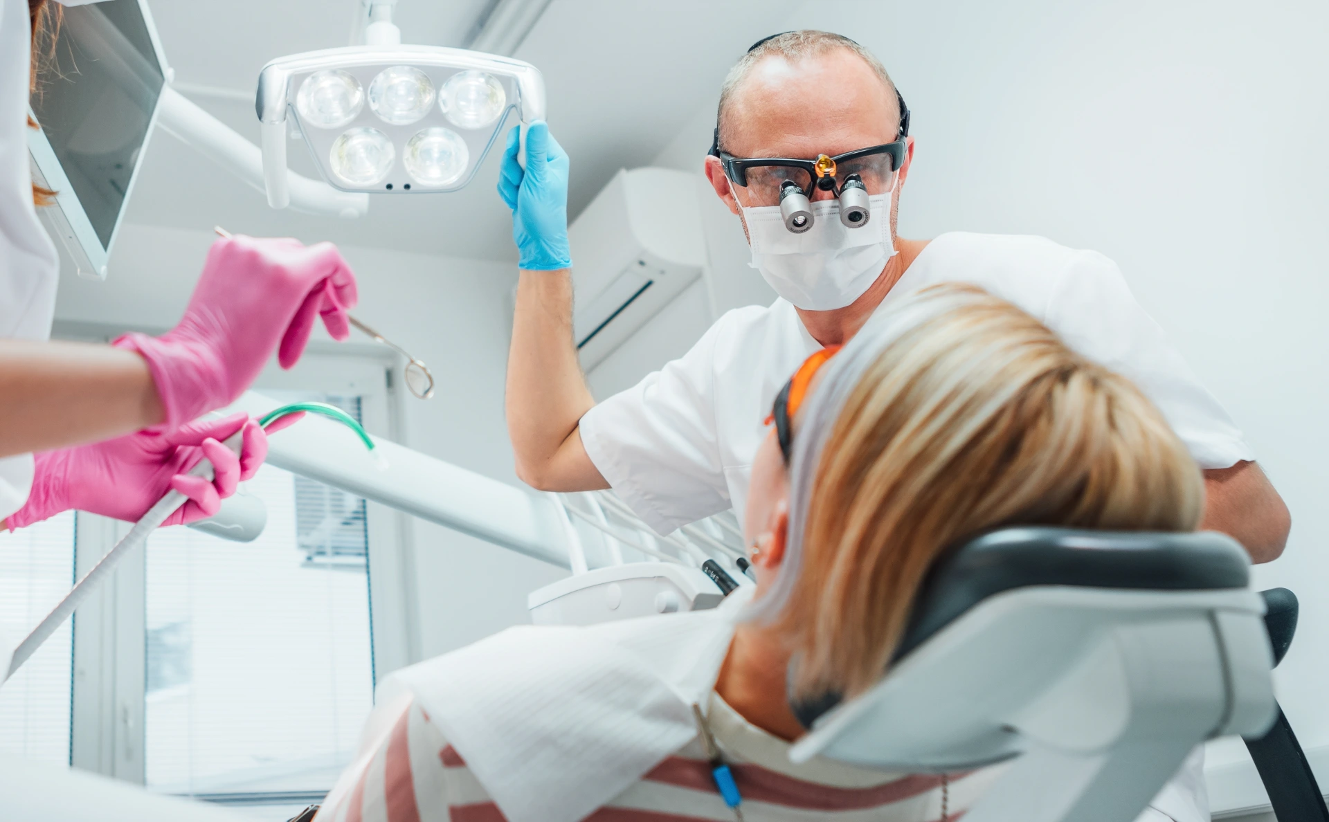
<instances>
[{"instance_id":1,"label":"white dental lamp head with five round lights","mask_svg":"<svg viewBox=\"0 0 1329 822\"><path fill-rule=\"evenodd\" d=\"M279 57L259 73L263 177L284 208L287 129L303 137L343 191L456 191L474 177L509 112L525 127L545 116L545 81L528 62L401 45L393 3L367 3L367 45ZM292 127L294 126L294 127Z\"/></svg>"}]
</instances>

